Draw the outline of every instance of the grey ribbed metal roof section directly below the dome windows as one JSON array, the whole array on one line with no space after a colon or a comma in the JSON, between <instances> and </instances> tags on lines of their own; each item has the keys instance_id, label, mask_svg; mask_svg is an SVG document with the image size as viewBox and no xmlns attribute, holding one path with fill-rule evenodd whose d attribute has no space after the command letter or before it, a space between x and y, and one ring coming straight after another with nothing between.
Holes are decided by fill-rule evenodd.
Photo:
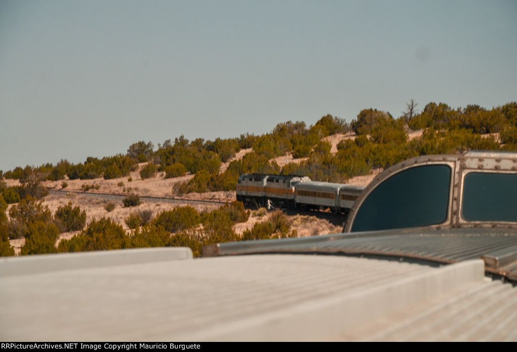
<instances>
[{"instance_id":1,"label":"grey ribbed metal roof section directly below the dome windows","mask_svg":"<svg viewBox=\"0 0 517 352\"><path fill-rule=\"evenodd\" d=\"M486 270L517 280L515 229L390 230L295 239L223 243L204 255L245 253L344 253L398 256L438 263L483 259Z\"/></svg>"}]
</instances>

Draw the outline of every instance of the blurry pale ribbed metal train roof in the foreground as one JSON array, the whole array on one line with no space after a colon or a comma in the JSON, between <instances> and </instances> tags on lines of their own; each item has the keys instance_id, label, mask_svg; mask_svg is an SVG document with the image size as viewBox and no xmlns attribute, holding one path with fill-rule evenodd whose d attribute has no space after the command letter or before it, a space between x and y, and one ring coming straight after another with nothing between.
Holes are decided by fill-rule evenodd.
<instances>
[{"instance_id":1,"label":"blurry pale ribbed metal train roof in the foreground","mask_svg":"<svg viewBox=\"0 0 517 352\"><path fill-rule=\"evenodd\" d=\"M187 248L0 261L2 341L517 340L517 289L481 260L191 259Z\"/></svg>"}]
</instances>

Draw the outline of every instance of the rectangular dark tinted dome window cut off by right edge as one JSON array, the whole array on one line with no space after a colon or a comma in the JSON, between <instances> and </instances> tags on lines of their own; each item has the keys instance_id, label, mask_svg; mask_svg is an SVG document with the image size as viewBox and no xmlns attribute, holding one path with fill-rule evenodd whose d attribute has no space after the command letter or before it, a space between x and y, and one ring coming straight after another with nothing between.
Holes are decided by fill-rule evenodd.
<instances>
[{"instance_id":1,"label":"rectangular dark tinted dome window cut off by right edge","mask_svg":"<svg viewBox=\"0 0 517 352\"><path fill-rule=\"evenodd\" d=\"M517 221L517 174L466 174L461 216L467 221Z\"/></svg>"}]
</instances>

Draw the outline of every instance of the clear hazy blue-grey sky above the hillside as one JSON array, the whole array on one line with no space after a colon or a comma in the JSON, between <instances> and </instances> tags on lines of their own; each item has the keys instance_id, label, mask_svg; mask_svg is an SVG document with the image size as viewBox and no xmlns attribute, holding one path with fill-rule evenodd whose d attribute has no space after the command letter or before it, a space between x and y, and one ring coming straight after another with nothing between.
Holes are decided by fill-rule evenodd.
<instances>
[{"instance_id":1,"label":"clear hazy blue-grey sky above the hillside","mask_svg":"<svg viewBox=\"0 0 517 352\"><path fill-rule=\"evenodd\" d=\"M0 170L517 101L517 2L1 0Z\"/></svg>"}]
</instances>

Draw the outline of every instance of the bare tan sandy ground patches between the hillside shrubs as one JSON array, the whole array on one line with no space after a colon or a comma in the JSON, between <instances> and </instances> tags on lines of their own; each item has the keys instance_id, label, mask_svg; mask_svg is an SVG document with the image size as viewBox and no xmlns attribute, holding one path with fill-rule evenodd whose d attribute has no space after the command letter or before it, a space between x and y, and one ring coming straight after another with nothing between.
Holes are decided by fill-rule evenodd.
<instances>
[{"instance_id":1,"label":"bare tan sandy ground patches between the hillside shrubs","mask_svg":"<svg viewBox=\"0 0 517 352\"><path fill-rule=\"evenodd\" d=\"M337 152L336 146L339 141L343 139L353 139L353 135L336 134L329 136L327 140L332 143L332 152ZM241 159L247 153L252 152L251 148L242 149L236 153L236 155L230 159L230 161L223 163L220 166L220 172L224 172L230 162ZM276 157L271 161L276 161L279 166L286 165L291 162L299 162L302 159L293 158L291 153L287 153L284 156ZM157 214L164 211L169 211L177 206L190 205L193 206L198 212L209 212L217 209L221 203L235 201L235 191L209 191L205 193L189 193L186 195L178 196L174 193L174 185L176 183L188 182L194 175L187 174L183 177L176 178L165 178L164 172L158 172L154 178L144 179L140 177L140 171L148 163L140 163L138 169L131 171L128 177L121 177L111 180L104 180L103 178L96 178L91 180L69 180L65 178L59 181L43 181L42 185L48 188L51 192L49 195L43 198L43 206L47 206L48 209L54 214L58 207L64 206L69 202L72 202L73 206L79 206L81 210L86 212L87 218L86 223L91 222L93 219L100 219L102 217L111 218L121 225L126 231L130 231L125 220L133 213L139 211L150 211L155 217ZM375 175L380 173L382 169L372 170L369 175L362 175L354 177L348 180L349 184L352 185L367 185L370 183ZM131 181L128 181L131 180ZM7 186L18 186L20 185L19 180L6 180ZM66 187L63 187L66 185ZM92 189L84 191L83 185L94 186ZM58 192L55 192L58 191ZM112 199L106 195L118 195L126 196L129 193L137 194L141 197L156 197L156 198L175 198L174 203L168 200L160 199L146 199L143 198L142 204L133 207L124 207L120 199ZM182 202L178 199L184 199ZM194 203L192 200L207 201L206 203ZM115 203L113 210L106 210L108 203ZM214 203L210 203L214 202ZM219 203L220 202L220 203ZM7 213L12 204L8 206ZM292 230L296 230L298 236L315 236L328 233L337 233L342 230L342 224L339 224L339 219L333 219L333 223L328 219L318 216L320 214L297 214L287 215L292 221ZM250 217L246 222L237 223L234 226L236 234L240 235L245 230L251 229L255 223L265 221L269 217L269 214L264 211L251 211ZM344 221L344 218L343 218ZM70 238L80 231L64 232L60 234L60 238ZM11 245L14 247L17 255L20 253L21 247L25 243L24 238L17 238L10 240Z\"/></svg>"}]
</instances>

